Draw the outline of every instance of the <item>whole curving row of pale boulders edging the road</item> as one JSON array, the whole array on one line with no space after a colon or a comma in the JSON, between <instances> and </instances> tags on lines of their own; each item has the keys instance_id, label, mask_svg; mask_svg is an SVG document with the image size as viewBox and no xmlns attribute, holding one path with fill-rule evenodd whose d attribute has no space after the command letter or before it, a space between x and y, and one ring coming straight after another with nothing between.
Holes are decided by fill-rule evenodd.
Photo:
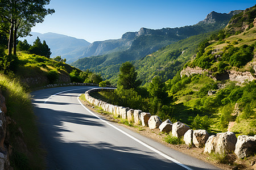
<instances>
[{"instance_id":1,"label":"whole curving row of pale boulders edging the road","mask_svg":"<svg viewBox=\"0 0 256 170\"><path fill-rule=\"evenodd\" d=\"M212 135L209 137L206 130L192 130L182 122L175 122L174 124L172 124L170 120L162 122L158 116L151 116L150 113L108 104L90 96L93 92L113 91L114 89L115 88L93 88L92 90L85 92L85 99L89 101L89 103L96 105L97 107L101 107L106 112L112 113L117 117L127 119L129 123L135 123L142 126L150 125L150 129L159 129L160 131L167 133L170 132L173 136L178 138L184 135L186 145L196 147L205 146L205 153L216 152L217 154L225 154L234 152L238 158L255 154L256 135L254 137L243 135L238 137L237 140L236 135L228 131L226 133L218 133L216 136Z\"/></svg>"}]
</instances>

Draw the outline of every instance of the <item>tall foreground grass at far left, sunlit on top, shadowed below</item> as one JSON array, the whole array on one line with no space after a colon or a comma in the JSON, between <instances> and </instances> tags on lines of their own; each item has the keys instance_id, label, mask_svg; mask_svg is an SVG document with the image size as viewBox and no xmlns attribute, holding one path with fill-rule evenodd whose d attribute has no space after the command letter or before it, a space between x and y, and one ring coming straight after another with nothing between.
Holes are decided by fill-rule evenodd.
<instances>
[{"instance_id":1,"label":"tall foreground grass at far left, sunlit on top, shadowed below","mask_svg":"<svg viewBox=\"0 0 256 170\"><path fill-rule=\"evenodd\" d=\"M11 166L17 169L42 169L44 154L40 148L31 96L20 86L18 80L11 80L2 74L0 74L0 88L6 99L6 116L14 120L7 126L10 133L9 142L14 150ZM22 129L23 134L19 128ZM27 150L23 148L19 139L24 141Z\"/></svg>"}]
</instances>

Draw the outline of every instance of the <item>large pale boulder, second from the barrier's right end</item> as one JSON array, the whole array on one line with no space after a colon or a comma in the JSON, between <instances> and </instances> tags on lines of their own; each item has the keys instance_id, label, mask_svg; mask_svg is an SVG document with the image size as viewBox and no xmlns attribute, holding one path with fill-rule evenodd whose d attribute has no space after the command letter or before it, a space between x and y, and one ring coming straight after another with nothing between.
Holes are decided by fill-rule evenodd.
<instances>
[{"instance_id":1,"label":"large pale boulder, second from the barrier's right end","mask_svg":"<svg viewBox=\"0 0 256 170\"><path fill-rule=\"evenodd\" d=\"M215 152L218 154L230 153L235 150L237 143L236 135L227 131L225 133L217 133L216 143L215 143Z\"/></svg>"}]
</instances>

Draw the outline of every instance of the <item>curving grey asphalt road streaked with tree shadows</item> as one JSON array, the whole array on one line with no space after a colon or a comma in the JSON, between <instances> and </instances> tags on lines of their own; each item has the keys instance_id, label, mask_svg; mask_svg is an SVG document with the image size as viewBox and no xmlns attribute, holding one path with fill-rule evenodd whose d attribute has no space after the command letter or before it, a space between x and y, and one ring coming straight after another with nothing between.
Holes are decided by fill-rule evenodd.
<instances>
[{"instance_id":1,"label":"curving grey asphalt road streaked with tree shadows","mask_svg":"<svg viewBox=\"0 0 256 170\"><path fill-rule=\"evenodd\" d=\"M32 92L47 169L218 169L88 111L77 96L91 88Z\"/></svg>"}]
</instances>

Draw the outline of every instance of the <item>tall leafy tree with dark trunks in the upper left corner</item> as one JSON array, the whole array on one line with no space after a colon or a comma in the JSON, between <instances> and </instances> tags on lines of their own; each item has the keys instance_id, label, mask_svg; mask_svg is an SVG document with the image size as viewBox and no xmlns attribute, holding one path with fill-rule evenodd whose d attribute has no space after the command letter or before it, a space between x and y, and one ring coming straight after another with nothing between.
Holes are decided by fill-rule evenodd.
<instances>
[{"instance_id":1,"label":"tall leafy tree with dark trunks in the upper left corner","mask_svg":"<svg viewBox=\"0 0 256 170\"><path fill-rule=\"evenodd\" d=\"M9 23L9 54L16 54L16 39L19 36L29 35L31 28L36 23L42 23L44 17L55 12L47 9L50 0L1 0L0 1L0 21Z\"/></svg>"}]
</instances>

